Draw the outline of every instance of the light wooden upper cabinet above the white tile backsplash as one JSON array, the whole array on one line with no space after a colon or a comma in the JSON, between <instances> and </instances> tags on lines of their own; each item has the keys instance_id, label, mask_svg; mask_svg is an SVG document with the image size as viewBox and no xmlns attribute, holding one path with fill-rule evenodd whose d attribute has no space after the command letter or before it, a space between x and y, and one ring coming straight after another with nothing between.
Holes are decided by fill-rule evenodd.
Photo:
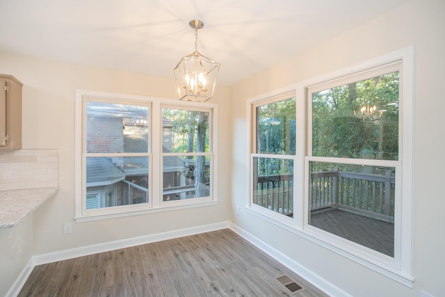
<instances>
[{"instance_id":1,"label":"light wooden upper cabinet above the white tile backsplash","mask_svg":"<svg viewBox=\"0 0 445 297\"><path fill-rule=\"evenodd\" d=\"M22 148L22 86L12 75L0 74L0 150Z\"/></svg>"}]
</instances>

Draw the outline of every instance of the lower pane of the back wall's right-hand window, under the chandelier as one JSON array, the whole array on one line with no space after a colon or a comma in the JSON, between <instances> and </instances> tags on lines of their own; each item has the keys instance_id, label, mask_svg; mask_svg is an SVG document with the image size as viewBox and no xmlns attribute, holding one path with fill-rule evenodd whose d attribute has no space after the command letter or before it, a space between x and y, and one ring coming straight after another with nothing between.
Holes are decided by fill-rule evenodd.
<instances>
[{"instance_id":1,"label":"lower pane of the back wall's right-hand window, under the chandelier","mask_svg":"<svg viewBox=\"0 0 445 297\"><path fill-rule=\"evenodd\" d=\"M164 156L163 201L210 196L210 156Z\"/></svg>"}]
</instances>

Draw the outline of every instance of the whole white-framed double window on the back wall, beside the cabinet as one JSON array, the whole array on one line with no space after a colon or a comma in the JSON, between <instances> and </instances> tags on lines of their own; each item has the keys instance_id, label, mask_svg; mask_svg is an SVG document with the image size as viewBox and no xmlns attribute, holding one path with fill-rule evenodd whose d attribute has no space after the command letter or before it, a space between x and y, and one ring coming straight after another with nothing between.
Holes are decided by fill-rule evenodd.
<instances>
[{"instance_id":1,"label":"whole white-framed double window on the back wall, beside the cabinet","mask_svg":"<svg viewBox=\"0 0 445 297\"><path fill-rule=\"evenodd\" d=\"M76 221L216 202L216 108L193 106L76 90Z\"/></svg>"}]
</instances>

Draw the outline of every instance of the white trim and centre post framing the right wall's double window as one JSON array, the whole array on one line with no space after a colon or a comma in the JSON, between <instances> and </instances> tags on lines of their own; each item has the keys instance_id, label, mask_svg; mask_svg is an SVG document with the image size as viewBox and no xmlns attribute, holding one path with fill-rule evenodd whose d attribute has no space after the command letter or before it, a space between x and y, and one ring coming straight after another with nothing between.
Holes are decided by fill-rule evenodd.
<instances>
[{"instance_id":1,"label":"white trim and centre post framing the right wall's double window","mask_svg":"<svg viewBox=\"0 0 445 297\"><path fill-rule=\"evenodd\" d=\"M305 158L305 152L307 147L306 127L307 127L307 89L311 86L316 86L324 81L332 81L341 79L347 76L353 76L354 74L362 73L366 70L371 70L375 67L382 67L391 63L401 61L401 129L400 138L401 143L401 156L403 159L403 166L398 170L402 172L398 175L398 184L401 184L401 188L398 191L401 193L399 197L403 197L403 203L398 201L400 211L400 219L398 225L394 224L395 228L400 228L395 233L395 257L389 257L382 255L379 252L375 252L369 248L359 246L355 243L346 242L346 240L339 240L337 236L332 234L326 234L318 230L316 227L307 224L308 211L307 205L307 164L309 163L307 157ZM297 92L297 136L296 143L299 144L296 147L296 163L295 168L305 168L305 170L296 170L294 172L294 216L293 222L289 223L288 220L282 220L270 214L273 211L259 210L257 207L252 207L251 190L249 187L248 204L246 206L250 214L254 214L270 223L274 223L304 239L313 241L328 250L337 252L339 255L362 264L367 268L371 268L373 271L377 271L382 275L396 280L407 287L412 287L414 282L413 275L413 259L412 259L412 246L413 246L413 205L414 205L414 47L406 47L398 51L385 54L378 58L373 58L364 63L359 63L351 67L346 67L342 70L331 72L329 74L309 79L296 83L293 86L289 86L282 90L277 90L273 93L261 95L248 100L247 113L248 113L248 135L252 133L252 104L258 102L261 99L272 97L273 95L283 93L284 90L296 90ZM250 143L248 145L248 154L251 155L252 137L250 137ZM337 161L340 161L337 159ZM343 161L343 160L341 160ZM355 161L351 161L355 162ZM389 162L391 163L391 162ZM391 163L394 166L394 163ZM249 163L250 182L252 183L252 163ZM397 202L396 202L397 203ZM300 211L298 211L300 207ZM397 256L396 256L397 255Z\"/></svg>"}]
</instances>

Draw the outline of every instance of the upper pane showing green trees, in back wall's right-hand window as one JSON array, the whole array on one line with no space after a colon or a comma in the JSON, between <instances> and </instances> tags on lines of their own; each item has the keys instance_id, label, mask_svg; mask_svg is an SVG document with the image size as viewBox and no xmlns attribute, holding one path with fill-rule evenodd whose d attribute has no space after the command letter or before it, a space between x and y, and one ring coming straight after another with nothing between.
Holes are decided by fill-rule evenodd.
<instances>
[{"instance_id":1,"label":"upper pane showing green trees, in back wall's right-hand window","mask_svg":"<svg viewBox=\"0 0 445 297\"><path fill-rule=\"evenodd\" d=\"M162 109L163 152L209 152L209 112Z\"/></svg>"}]
</instances>

